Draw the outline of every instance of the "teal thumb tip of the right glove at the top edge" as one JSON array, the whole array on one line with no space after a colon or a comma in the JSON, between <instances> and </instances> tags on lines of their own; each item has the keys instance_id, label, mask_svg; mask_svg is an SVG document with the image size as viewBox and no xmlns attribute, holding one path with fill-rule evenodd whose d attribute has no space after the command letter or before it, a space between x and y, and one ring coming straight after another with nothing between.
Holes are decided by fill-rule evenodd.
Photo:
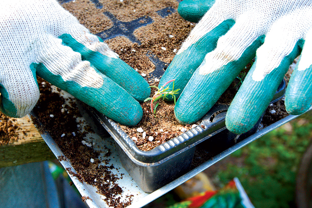
<instances>
[{"instance_id":1,"label":"teal thumb tip of the right glove at the top edge","mask_svg":"<svg viewBox=\"0 0 312 208\"><path fill-rule=\"evenodd\" d=\"M183 0L179 3L179 15L190 22L198 22L212 7L215 0Z\"/></svg>"}]
</instances>

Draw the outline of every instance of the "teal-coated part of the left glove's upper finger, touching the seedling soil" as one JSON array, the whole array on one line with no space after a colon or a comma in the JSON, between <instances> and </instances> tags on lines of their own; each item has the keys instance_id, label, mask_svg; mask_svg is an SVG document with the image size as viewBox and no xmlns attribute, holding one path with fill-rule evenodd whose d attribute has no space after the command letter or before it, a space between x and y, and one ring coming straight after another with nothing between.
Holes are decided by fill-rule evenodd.
<instances>
[{"instance_id":1,"label":"teal-coated part of the left glove's upper finger, touching the seedling soil","mask_svg":"<svg viewBox=\"0 0 312 208\"><path fill-rule=\"evenodd\" d=\"M92 51L69 34L63 34L60 38L64 45L79 52L82 60L88 60L102 74L124 88L134 99L143 102L149 97L151 92L147 81L118 57L105 56L100 52Z\"/></svg>"}]
</instances>

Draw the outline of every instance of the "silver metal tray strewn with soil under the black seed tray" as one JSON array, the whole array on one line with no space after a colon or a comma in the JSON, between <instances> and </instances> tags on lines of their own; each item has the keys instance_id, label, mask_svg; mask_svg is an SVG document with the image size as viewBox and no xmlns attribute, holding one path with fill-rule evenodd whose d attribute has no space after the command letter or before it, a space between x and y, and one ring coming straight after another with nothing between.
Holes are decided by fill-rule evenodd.
<instances>
[{"instance_id":1,"label":"silver metal tray strewn with soil under the black seed tray","mask_svg":"<svg viewBox=\"0 0 312 208\"><path fill-rule=\"evenodd\" d=\"M312 107L309 109L311 110ZM31 114L34 116L34 118L37 118L35 114ZM117 152L115 151L115 142L112 138L105 138L102 139L99 136L92 135L90 136L90 141L94 142L95 150L100 151L106 151L106 149L101 147L110 147L112 154L107 158L111 160L111 163L114 164L115 168L118 168L119 173L118 174L124 174L122 179L117 181L120 186L122 186L122 190L124 192L124 195L134 195L132 204L128 206L128 208L134 208L134 207L142 207L146 204L148 204L151 201L154 201L158 197L162 196L163 194L167 193L168 191L172 190L173 188L179 186L180 184L184 183L188 179L194 177L199 172L202 172L203 170L207 169L208 167L212 166L214 163L222 160L223 158L227 157L231 153L235 152L236 150L246 146L247 144L253 142L257 138L260 138L266 133L271 132L272 130L282 126L283 124L289 122L292 119L297 118L298 116L289 115L285 117L284 119L281 119L270 126L261 129L260 131L252 134L251 136L245 138L244 140L236 143L230 148L227 148L225 151L218 153L214 157L210 158L206 162L203 162L201 165L195 167L193 170L185 173L183 176L175 179L174 181L168 183L167 185L159 188L158 190L152 192L152 193L146 193L142 189L140 189L137 184L132 180L132 177L128 174L128 172L122 167L121 162L118 159ZM43 125L39 124L41 128L43 128ZM54 142L54 140L51 138L49 133L47 132L41 132L42 138L45 140L47 145L50 147L51 151L55 154L56 157L59 156L65 156L63 152L61 152L60 148L57 146L57 144ZM101 156L102 159L105 156ZM61 165L64 168L71 168L71 171L76 172L74 167L71 165L71 161L60 161ZM96 191L96 188L90 185L87 185L85 182L80 182L79 180L76 180L76 177L72 174L69 174L72 181L74 182L75 186L79 190L80 194L82 196L90 197L90 199L87 199L86 202L90 206L90 208L104 208L109 207L105 201L102 200L103 196L98 194ZM123 196L124 196L123 195Z\"/></svg>"}]
</instances>

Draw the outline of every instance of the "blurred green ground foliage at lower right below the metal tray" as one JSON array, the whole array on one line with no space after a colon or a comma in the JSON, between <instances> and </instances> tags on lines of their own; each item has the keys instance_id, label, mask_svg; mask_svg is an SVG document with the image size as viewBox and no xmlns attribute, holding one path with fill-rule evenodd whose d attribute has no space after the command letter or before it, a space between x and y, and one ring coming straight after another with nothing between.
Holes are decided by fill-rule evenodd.
<instances>
[{"instance_id":1,"label":"blurred green ground foliage at lower right below the metal tray","mask_svg":"<svg viewBox=\"0 0 312 208\"><path fill-rule=\"evenodd\" d=\"M222 184L238 177L256 208L295 207L296 174L311 138L308 112L234 152L231 160L243 162L228 164L217 176Z\"/></svg>"}]
</instances>

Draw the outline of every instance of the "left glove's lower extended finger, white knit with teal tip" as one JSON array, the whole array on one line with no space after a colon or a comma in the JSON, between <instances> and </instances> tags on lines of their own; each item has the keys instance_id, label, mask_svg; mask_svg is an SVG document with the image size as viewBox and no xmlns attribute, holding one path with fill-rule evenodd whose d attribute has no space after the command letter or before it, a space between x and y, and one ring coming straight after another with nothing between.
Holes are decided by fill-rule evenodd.
<instances>
[{"instance_id":1,"label":"left glove's lower extended finger, white knit with teal tip","mask_svg":"<svg viewBox=\"0 0 312 208\"><path fill-rule=\"evenodd\" d=\"M142 108L126 90L82 61L79 53L48 36L38 54L37 74L67 91L104 115L124 125L135 125L142 118Z\"/></svg>"}]
</instances>

